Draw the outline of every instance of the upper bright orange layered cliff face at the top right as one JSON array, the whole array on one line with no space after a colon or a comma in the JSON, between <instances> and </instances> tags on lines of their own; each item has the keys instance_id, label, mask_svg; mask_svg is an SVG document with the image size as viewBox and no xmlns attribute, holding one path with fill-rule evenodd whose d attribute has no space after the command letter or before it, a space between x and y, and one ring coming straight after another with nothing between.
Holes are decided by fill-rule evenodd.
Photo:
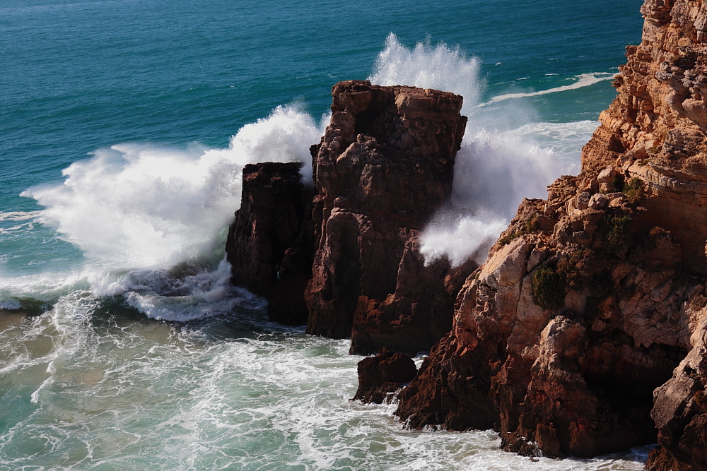
<instances>
[{"instance_id":1,"label":"upper bright orange layered cliff face at the top right","mask_svg":"<svg viewBox=\"0 0 707 471\"><path fill-rule=\"evenodd\" d=\"M626 47L619 96L583 153L583 184L620 156L659 196L644 204L655 225L672 227L685 263L707 273L707 4L647 0L641 13L643 41Z\"/></svg>"}]
</instances>

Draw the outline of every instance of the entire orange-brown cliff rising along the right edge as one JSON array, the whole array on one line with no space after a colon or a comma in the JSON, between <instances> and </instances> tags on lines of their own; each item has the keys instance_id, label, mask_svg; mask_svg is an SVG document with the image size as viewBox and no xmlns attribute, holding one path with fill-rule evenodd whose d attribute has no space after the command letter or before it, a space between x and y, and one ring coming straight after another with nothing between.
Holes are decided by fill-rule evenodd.
<instances>
[{"instance_id":1,"label":"entire orange-brown cliff rising along the right edge","mask_svg":"<svg viewBox=\"0 0 707 471\"><path fill-rule=\"evenodd\" d=\"M549 456L657 438L649 470L707 469L707 2L641 11L582 173L523 201L467 278L400 396L412 426Z\"/></svg>"}]
</instances>

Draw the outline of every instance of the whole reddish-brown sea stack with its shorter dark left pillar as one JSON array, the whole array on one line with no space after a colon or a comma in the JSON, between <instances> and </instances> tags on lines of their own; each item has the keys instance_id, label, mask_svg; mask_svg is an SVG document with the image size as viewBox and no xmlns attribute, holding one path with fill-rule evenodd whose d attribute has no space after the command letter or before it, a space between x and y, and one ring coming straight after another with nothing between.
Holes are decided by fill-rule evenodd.
<instances>
[{"instance_id":1,"label":"whole reddish-brown sea stack with its shorter dark left pillar","mask_svg":"<svg viewBox=\"0 0 707 471\"><path fill-rule=\"evenodd\" d=\"M352 353L429 350L452 328L457 292L477 268L426 264L420 253L421 230L452 191L462 97L346 81L332 99L311 149L315 189L298 164L243 170L226 248L233 282L269 299L275 321L351 337Z\"/></svg>"}]
</instances>

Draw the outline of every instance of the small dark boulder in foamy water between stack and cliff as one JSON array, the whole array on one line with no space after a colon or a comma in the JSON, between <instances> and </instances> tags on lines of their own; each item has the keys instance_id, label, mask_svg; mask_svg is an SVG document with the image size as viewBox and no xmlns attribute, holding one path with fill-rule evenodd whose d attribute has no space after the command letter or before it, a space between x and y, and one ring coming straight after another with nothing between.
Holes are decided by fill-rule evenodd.
<instances>
[{"instance_id":1,"label":"small dark boulder in foamy water between stack and cliff","mask_svg":"<svg viewBox=\"0 0 707 471\"><path fill-rule=\"evenodd\" d=\"M406 354L383 348L375 357L358 362L358 390L352 400L381 404L417 374L415 362Z\"/></svg>"}]
</instances>

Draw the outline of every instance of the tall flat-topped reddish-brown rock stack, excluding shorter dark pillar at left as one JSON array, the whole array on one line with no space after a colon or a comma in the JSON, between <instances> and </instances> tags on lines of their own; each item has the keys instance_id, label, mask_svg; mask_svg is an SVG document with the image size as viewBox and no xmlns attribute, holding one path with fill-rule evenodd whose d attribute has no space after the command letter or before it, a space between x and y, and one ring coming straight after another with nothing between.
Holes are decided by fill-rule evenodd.
<instances>
[{"instance_id":1,"label":"tall flat-topped reddish-brown rock stack, excluding shorter dark pillar at left","mask_svg":"<svg viewBox=\"0 0 707 471\"><path fill-rule=\"evenodd\" d=\"M452 190L462 97L367 81L332 88L332 120L312 147L317 251L307 332L351 335L352 353L414 354L451 328L475 266L425 266L419 234Z\"/></svg>"}]
</instances>

